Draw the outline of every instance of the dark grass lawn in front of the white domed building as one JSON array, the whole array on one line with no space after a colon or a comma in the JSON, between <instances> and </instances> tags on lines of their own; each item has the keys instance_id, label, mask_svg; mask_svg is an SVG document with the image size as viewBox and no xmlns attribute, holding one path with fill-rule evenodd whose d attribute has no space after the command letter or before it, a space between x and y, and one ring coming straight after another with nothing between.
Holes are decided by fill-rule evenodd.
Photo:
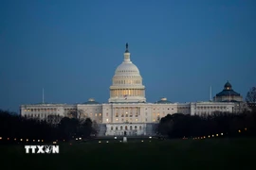
<instances>
[{"instance_id":1,"label":"dark grass lawn in front of the white domed building","mask_svg":"<svg viewBox=\"0 0 256 170\"><path fill-rule=\"evenodd\" d=\"M60 144L60 154L26 154L24 145L0 145L0 169L256 169L256 139L144 140Z\"/></svg>"}]
</instances>

